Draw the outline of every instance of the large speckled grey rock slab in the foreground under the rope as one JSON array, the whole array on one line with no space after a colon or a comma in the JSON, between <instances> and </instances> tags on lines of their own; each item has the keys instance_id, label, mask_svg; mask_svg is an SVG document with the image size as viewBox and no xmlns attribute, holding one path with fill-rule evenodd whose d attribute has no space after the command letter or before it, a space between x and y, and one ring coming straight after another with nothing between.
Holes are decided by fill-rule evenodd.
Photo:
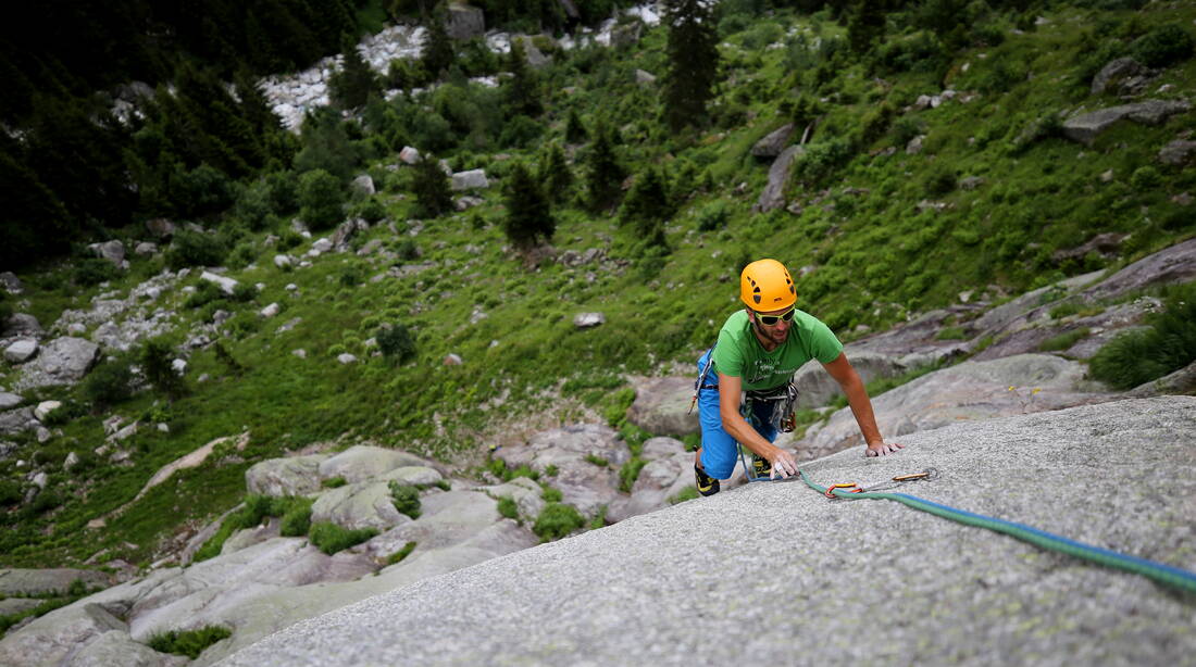
<instances>
[{"instance_id":1,"label":"large speckled grey rock slab in the foreground under the rope","mask_svg":"<svg viewBox=\"0 0 1196 667\"><path fill-rule=\"evenodd\" d=\"M868 485L933 466L938 479L902 491L1194 570L1194 398L1118 402L952 424L908 436L893 457L843 452L805 471L822 485ZM1011 483L1020 479L1035 483ZM1093 484L1106 490L1099 502ZM880 546L828 549L807 539L816 527ZM801 590L834 590L836 613ZM903 620L860 632L878 606ZM745 620L752 641L728 642ZM1171 665L1196 651L1190 622L1182 595L1140 576L889 501L830 502L798 481L749 484L384 593L224 667L322 667L334 654L346 665L788 663L795 645L811 663ZM687 650L664 655L645 637Z\"/></svg>"}]
</instances>

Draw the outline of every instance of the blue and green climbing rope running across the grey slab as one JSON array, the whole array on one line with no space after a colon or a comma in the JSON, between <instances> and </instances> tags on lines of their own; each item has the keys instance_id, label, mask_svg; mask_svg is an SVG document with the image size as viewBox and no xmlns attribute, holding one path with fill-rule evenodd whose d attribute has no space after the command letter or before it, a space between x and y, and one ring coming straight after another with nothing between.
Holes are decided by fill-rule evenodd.
<instances>
[{"instance_id":1,"label":"blue and green climbing rope running across the grey slab","mask_svg":"<svg viewBox=\"0 0 1196 667\"><path fill-rule=\"evenodd\" d=\"M929 472L928 469L926 472ZM855 491L843 490L842 484L832 484L830 488L820 487L810 479L804 470L799 470L798 473L801 476L803 482L807 487L823 494L828 497L846 498L846 500L891 500L899 502L907 507L919 509L921 512L927 512L935 516L941 516L944 519L951 519L952 521L958 521L968 526L976 526L980 528L988 528L997 533L1003 533L1013 538L1027 541L1036 546L1043 549L1050 549L1052 551L1058 551L1060 553L1066 553L1074 558L1084 558L1085 561L1091 561L1107 568L1116 568L1128 573L1134 573L1151 580L1154 580L1165 586L1171 586L1188 593L1196 593L1196 573L1191 573L1180 568L1167 565L1164 563L1158 563L1155 561L1148 561L1146 558L1139 558L1137 556L1129 556L1125 553L1119 553L1117 551L1111 551L1109 549L1102 549L1099 546L1093 546L1091 544L1084 544L1075 541L1064 537L1056 536L1054 533L1048 533L1046 531L1041 531L1024 524L1015 524L1013 521L1006 521L1003 519L995 519L993 516L984 516L983 514L974 514L971 512L965 512L963 509L956 509L945 504L939 504L936 502L930 502L917 496L910 496L908 494L878 494L869 489L859 489ZM927 477L929 479L930 477ZM901 483L897 478L893 478L895 483ZM850 487L855 487L852 484ZM889 488L887 484L883 485ZM873 487L872 489L878 489L881 487Z\"/></svg>"}]
</instances>

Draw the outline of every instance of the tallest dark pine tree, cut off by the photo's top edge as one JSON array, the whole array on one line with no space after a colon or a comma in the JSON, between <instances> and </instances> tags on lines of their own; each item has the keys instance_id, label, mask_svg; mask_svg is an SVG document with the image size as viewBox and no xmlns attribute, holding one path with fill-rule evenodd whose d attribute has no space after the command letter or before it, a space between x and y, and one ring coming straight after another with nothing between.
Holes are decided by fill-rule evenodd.
<instances>
[{"instance_id":1,"label":"tallest dark pine tree, cut off by the photo's top edge","mask_svg":"<svg viewBox=\"0 0 1196 667\"><path fill-rule=\"evenodd\" d=\"M714 97L719 69L719 33L714 0L667 0L669 72L665 74L665 118L679 130L701 122Z\"/></svg>"}]
</instances>

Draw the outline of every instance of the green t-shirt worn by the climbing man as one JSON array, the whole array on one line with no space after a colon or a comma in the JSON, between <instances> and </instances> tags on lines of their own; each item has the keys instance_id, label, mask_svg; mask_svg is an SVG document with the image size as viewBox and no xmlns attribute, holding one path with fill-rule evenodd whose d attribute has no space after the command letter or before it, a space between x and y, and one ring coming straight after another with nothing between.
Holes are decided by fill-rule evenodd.
<instances>
[{"instance_id":1,"label":"green t-shirt worn by the climbing man","mask_svg":"<svg viewBox=\"0 0 1196 667\"><path fill-rule=\"evenodd\" d=\"M801 311L793 312L793 325L785 343L765 351L751 330L748 312L736 311L719 331L714 369L724 375L742 378L745 390L768 390L788 383L798 368L811 359L830 363L842 351L843 344L830 328Z\"/></svg>"}]
</instances>

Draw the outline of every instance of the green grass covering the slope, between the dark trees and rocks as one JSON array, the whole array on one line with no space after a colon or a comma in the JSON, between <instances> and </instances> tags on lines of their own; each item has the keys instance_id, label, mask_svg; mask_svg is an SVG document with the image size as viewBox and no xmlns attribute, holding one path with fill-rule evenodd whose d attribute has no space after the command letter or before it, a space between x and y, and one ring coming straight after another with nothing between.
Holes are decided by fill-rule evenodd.
<instances>
[{"instance_id":1,"label":"green grass covering the slope, between the dark trees and rocks","mask_svg":"<svg viewBox=\"0 0 1196 667\"><path fill-rule=\"evenodd\" d=\"M655 163L673 177L687 169L710 175L713 192L697 191L697 178L677 183L683 191L694 191L667 226L672 247L667 258L635 261L629 231L608 216L566 208L559 210L559 250L599 246L631 262L617 271L555 263L527 270L502 250L498 188L478 209L426 221L414 239L423 253L417 262L437 267L403 279L371 282L388 264L377 256L325 256L310 269L277 271L271 263L275 250L256 238L258 268L234 275L267 287L226 325L233 331L226 347L246 367L244 374L232 374L212 350L195 353L188 373L191 392L170 409L171 432L142 429L130 441L134 455L128 467L87 459L92 463L89 471L61 472L68 452L87 452L100 443L99 415L72 421L62 427L61 437L45 445L22 441L19 455L0 463L0 471L8 479L23 478L29 467L17 467L17 458L44 466L51 471L49 489L63 503L42 513L25 508L7 514L0 562L79 562L99 549L108 549L105 558L150 562L161 540L181 526L239 502L249 465L317 441L340 439L347 445L373 439L445 460L477 463L487 442L584 415L593 418L608 409L617 412L626 394L611 390L618 385L611 375L689 365L736 307L734 276L748 258L767 255L793 268L817 267L803 281L803 307L850 338L858 325L883 329L910 313L951 302L964 289L988 290L995 298L1100 268L1104 262L1096 258L1066 267L1049 261L1055 249L1079 245L1099 232L1134 233L1122 262L1190 235L1191 222L1177 222L1178 207L1170 196L1192 189L1192 170L1160 169L1160 185L1139 189L1130 185L1130 175L1155 164L1159 147L1178 131L1196 127L1192 114L1163 128L1125 124L1088 148L1058 137L1024 149L1012 147L1038 117L1081 104L1094 109L1116 103L1091 98L1086 84L1078 81L1092 39L1127 39L1118 37L1118 30L1131 36L1164 22L1190 25L1196 10L1168 5L1135 16L1063 10L1050 14L1050 24L1009 36L996 48L959 53L947 69L947 84L960 91L986 91L968 104L948 102L907 114L901 110L917 94L941 90L936 74L884 73L880 84L861 65L842 67L816 91L820 96L838 92L838 103L829 99L823 105L816 143L852 131L887 100L897 109L898 129L878 137L871 148L883 149L897 140L901 128L920 126L927 135L926 149L919 155L901 151L892 157L858 155L814 188L794 183L791 198L803 203L800 215L750 213L768 165L755 161L748 149L783 122L777 109L792 87L811 90L803 73L794 71L794 62L810 60L808 54L753 48L764 30L758 24L728 36L722 47L728 84L715 105L725 127L681 136L669 135L652 114L645 114L658 109L655 91L634 84L635 68L657 74L665 69L660 29L649 31L629 51L586 51L562 59L563 65L543 73L553 91L547 118L550 136L563 133L563 118L575 108L587 123L602 116L622 129L624 161L633 171ZM841 27L817 19L777 14L770 20L781 30L798 27L811 38L842 33ZM1137 27L1127 30L1131 20ZM1085 37L1086 32L1093 36ZM997 62L1005 69L994 69ZM1011 67L1014 77L1008 75ZM1170 82L1176 85L1170 96L1190 96L1191 81L1196 81L1196 61L1167 71L1154 87ZM566 86L575 88L565 92ZM580 151L584 154L584 147ZM535 159L533 149L512 153L515 159ZM492 175L506 169L506 163L483 153L453 159L458 166L486 166ZM383 164L389 161L392 158ZM1115 178L1103 183L1099 175L1110 169ZM388 185L390 218L405 231L410 198L395 196L402 178L388 177L383 169L372 172ZM934 177L944 172L986 180L970 191L936 192ZM739 183L748 183L743 194L736 192ZM846 186L866 192L844 194ZM916 207L922 200L948 207L923 213ZM700 213L718 202L730 209L727 224L697 231ZM130 238L136 234L130 231ZM379 226L355 243L374 238L397 247L401 238L409 237L396 238ZM133 275L112 288L127 289L158 268L153 261L134 259ZM354 276L366 280L358 282ZM30 286L31 310L44 324L65 307L81 307L98 292L77 293L54 274L22 277ZM191 276L183 282L195 281ZM288 282L299 287L300 296L287 293ZM179 312L181 339L197 312L183 308L183 295L177 292L164 300ZM283 313L260 319L256 311L273 301L285 305ZM475 310L487 317L470 324ZM585 311L602 311L606 324L576 330L572 318ZM292 318L301 323L291 332L276 334ZM415 361L396 367L368 355L362 342L389 322L405 323L417 334ZM292 354L297 348L306 349L306 360ZM362 361L337 363L334 357L342 350ZM450 353L460 355L464 363L444 366L441 360ZM202 373L212 379L196 383ZM562 388L567 379L570 383ZM10 381L11 373L0 378L5 386ZM32 398L42 397L74 394L49 390ZM142 393L116 412L138 416L153 404L154 397ZM251 434L244 452L222 452L197 470L176 473L122 515L110 518L106 528L84 530L87 521L132 500L161 465L214 437L243 430Z\"/></svg>"}]
</instances>

